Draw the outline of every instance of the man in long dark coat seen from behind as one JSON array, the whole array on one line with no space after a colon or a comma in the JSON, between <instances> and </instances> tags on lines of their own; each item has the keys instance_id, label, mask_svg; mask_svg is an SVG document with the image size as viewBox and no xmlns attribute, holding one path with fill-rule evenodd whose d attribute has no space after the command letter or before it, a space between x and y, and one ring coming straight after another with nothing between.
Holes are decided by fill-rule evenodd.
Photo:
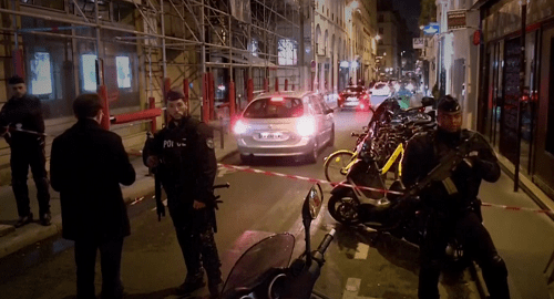
<instances>
[{"instance_id":1,"label":"man in long dark coat seen from behind","mask_svg":"<svg viewBox=\"0 0 554 299\"><path fill-rule=\"evenodd\" d=\"M76 124L54 138L50 161L52 187L60 193L62 237L75 241L78 298L95 298L96 250L102 260L102 298L121 298L123 238L131 233L120 183L131 185L135 171L121 137L100 126L96 94L73 103Z\"/></svg>"}]
</instances>

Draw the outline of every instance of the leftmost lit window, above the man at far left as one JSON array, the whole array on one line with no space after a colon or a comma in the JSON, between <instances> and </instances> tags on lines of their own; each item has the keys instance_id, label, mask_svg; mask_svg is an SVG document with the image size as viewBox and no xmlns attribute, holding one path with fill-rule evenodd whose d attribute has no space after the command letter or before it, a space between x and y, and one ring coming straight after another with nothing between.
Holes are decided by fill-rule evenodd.
<instances>
[{"instance_id":1,"label":"leftmost lit window, above the man at far left","mask_svg":"<svg viewBox=\"0 0 554 299\"><path fill-rule=\"evenodd\" d=\"M31 94L52 94L52 63L50 53L35 52L30 61L31 68Z\"/></svg>"}]
</instances>

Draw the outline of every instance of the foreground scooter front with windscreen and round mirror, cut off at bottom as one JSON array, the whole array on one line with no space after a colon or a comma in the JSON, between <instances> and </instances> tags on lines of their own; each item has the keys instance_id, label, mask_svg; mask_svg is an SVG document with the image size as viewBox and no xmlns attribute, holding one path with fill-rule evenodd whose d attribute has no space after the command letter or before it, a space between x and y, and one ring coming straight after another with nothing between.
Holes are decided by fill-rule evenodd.
<instances>
[{"instance_id":1,"label":"foreground scooter front with windscreen and round mirror, cut off at bottom","mask_svg":"<svg viewBox=\"0 0 554 299\"><path fill-rule=\"evenodd\" d=\"M295 247L291 234L276 234L248 248L237 260L225 281L222 299L309 299L325 298L314 292L314 285L325 264L325 251L335 229L318 248L310 249L309 228L324 203L319 184L314 185L302 205L306 250L290 265Z\"/></svg>"}]
</instances>

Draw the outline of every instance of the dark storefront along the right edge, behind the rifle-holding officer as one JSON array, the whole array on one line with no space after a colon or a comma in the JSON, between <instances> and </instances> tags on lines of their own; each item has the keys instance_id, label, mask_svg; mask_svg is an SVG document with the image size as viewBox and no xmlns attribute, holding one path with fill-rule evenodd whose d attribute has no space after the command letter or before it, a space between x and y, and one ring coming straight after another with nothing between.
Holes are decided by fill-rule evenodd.
<instances>
[{"instance_id":1,"label":"dark storefront along the right edge, behind the rifle-holding officer","mask_svg":"<svg viewBox=\"0 0 554 299\"><path fill-rule=\"evenodd\" d=\"M530 1L525 78L520 100L520 0L482 8L484 48L479 130L512 163L554 197L554 0ZM521 115L520 155L517 130Z\"/></svg>"}]
</instances>

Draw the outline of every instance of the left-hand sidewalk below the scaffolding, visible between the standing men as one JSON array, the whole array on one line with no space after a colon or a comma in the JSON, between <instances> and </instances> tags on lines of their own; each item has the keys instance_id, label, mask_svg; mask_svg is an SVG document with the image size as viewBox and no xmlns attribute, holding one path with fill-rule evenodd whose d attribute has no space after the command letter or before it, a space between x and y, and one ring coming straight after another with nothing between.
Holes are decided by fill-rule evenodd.
<instances>
[{"instance_id":1,"label":"left-hand sidewalk below the scaffolding, visible between the standing men","mask_svg":"<svg viewBox=\"0 0 554 299\"><path fill-rule=\"evenodd\" d=\"M213 124L213 126L217 127L217 124ZM220 161L236 152L236 141L228 130L223 135L224 148L220 146L220 132L218 130L214 130L214 135L217 161ZM148 193L154 193L154 178L152 176L147 176L147 167L143 165L142 157L136 155L138 154L138 151L127 148L127 152L132 153L130 154L130 159L136 172L136 181L131 186L122 186L125 203L133 202L135 198L144 196ZM60 194L50 188L52 225L41 226L38 223L39 207L34 182L29 179L28 186L29 197L31 199L31 212L34 214L35 221L18 229L13 227L19 217L11 186L0 186L0 258L61 233L62 218L60 212Z\"/></svg>"}]
</instances>

